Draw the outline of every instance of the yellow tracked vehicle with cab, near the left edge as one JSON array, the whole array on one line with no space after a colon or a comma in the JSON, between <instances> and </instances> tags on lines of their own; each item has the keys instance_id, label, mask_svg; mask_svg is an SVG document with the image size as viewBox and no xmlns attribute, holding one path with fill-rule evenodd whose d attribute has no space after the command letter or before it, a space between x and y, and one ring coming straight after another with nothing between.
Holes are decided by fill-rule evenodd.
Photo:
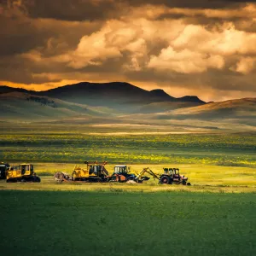
<instances>
[{"instance_id":1,"label":"yellow tracked vehicle with cab, near the left edge","mask_svg":"<svg viewBox=\"0 0 256 256\"><path fill-rule=\"evenodd\" d=\"M6 171L6 182L41 182L40 177L34 172L32 164L20 164L19 166L10 166Z\"/></svg>"}]
</instances>

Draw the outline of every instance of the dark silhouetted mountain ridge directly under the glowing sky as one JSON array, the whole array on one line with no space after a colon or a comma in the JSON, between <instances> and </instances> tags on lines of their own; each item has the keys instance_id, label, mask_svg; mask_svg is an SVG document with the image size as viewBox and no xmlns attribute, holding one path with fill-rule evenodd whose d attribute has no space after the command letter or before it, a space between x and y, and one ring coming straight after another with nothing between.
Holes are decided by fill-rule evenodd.
<instances>
[{"instance_id":1,"label":"dark silhouetted mountain ridge directly under the glowing sky","mask_svg":"<svg viewBox=\"0 0 256 256\"><path fill-rule=\"evenodd\" d=\"M24 89L0 86L0 93L20 91L38 96L49 96L61 99L65 102L74 102L90 106L106 106L128 110L134 106L153 102L196 102L204 104L196 96L184 96L175 98L168 95L164 90L143 90L135 85L121 82L113 83L89 83L68 84L51 90L32 91ZM131 108L131 109L130 109Z\"/></svg>"}]
</instances>

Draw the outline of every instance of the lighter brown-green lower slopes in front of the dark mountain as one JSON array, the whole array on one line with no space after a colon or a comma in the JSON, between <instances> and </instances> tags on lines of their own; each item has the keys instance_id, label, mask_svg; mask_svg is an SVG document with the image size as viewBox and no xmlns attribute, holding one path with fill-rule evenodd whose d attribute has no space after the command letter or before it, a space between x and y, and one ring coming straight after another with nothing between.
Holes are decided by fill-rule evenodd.
<instances>
[{"instance_id":1,"label":"lighter brown-green lower slopes in front of the dark mountain","mask_svg":"<svg viewBox=\"0 0 256 256\"><path fill-rule=\"evenodd\" d=\"M130 87L128 87L130 88ZM137 89L132 89L137 91ZM116 94L119 99L131 102L119 102L117 105L100 106L67 102L59 98L23 92L20 89L0 87L0 121L51 122L62 125L121 125L119 127L154 127L154 129L177 129L194 131L256 131L256 98L236 99L225 102L178 102L163 90L142 90L139 97L125 97ZM9 92L6 92L9 91ZM37 94L38 93L38 94ZM129 92L131 93L131 92ZM127 95L129 95L127 92ZM44 92L43 92L44 94ZM51 94L54 93L51 90ZM65 92L66 94L66 92ZM148 94L150 96L148 96ZM131 94L130 94L131 95ZM113 96L113 94L112 94ZM60 96L61 97L61 96ZM172 101L170 98L173 98ZM72 96L70 97L72 98ZM106 101L111 97L106 95ZM157 99L169 99L165 102L147 102ZM95 100L95 99L94 99ZM102 100L99 97L99 100ZM136 100L136 101L134 101ZM104 102L104 101L103 101Z\"/></svg>"}]
</instances>

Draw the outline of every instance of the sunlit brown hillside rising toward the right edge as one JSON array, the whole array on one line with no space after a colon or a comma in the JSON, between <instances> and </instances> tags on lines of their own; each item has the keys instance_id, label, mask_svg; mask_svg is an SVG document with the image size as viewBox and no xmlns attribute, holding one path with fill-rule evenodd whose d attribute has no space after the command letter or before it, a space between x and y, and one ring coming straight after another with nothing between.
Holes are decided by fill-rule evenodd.
<instances>
[{"instance_id":1,"label":"sunlit brown hillside rising toward the right edge","mask_svg":"<svg viewBox=\"0 0 256 256\"><path fill-rule=\"evenodd\" d=\"M154 104L153 104L154 105ZM148 106L151 106L149 104ZM170 106L169 106L170 107ZM164 105L164 108L166 106ZM148 113L146 112L148 111ZM256 130L256 98L244 98L225 102L211 102L190 108L173 108L163 112L133 113L122 116L122 119L132 119L151 124L186 127L186 129L228 129Z\"/></svg>"}]
</instances>

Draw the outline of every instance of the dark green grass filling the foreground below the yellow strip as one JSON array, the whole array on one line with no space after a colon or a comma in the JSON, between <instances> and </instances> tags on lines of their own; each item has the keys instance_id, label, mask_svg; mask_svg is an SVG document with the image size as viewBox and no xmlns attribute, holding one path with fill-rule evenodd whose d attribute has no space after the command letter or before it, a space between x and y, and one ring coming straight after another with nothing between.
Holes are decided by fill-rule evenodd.
<instances>
[{"instance_id":1,"label":"dark green grass filling the foreground below the yellow strip","mask_svg":"<svg viewBox=\"0 0 256 256\"><path fill-rule=\"evenodd\" d=\"M0 191L3 255L255 255L253 194Z\"/></svg>"}]
</instances>

